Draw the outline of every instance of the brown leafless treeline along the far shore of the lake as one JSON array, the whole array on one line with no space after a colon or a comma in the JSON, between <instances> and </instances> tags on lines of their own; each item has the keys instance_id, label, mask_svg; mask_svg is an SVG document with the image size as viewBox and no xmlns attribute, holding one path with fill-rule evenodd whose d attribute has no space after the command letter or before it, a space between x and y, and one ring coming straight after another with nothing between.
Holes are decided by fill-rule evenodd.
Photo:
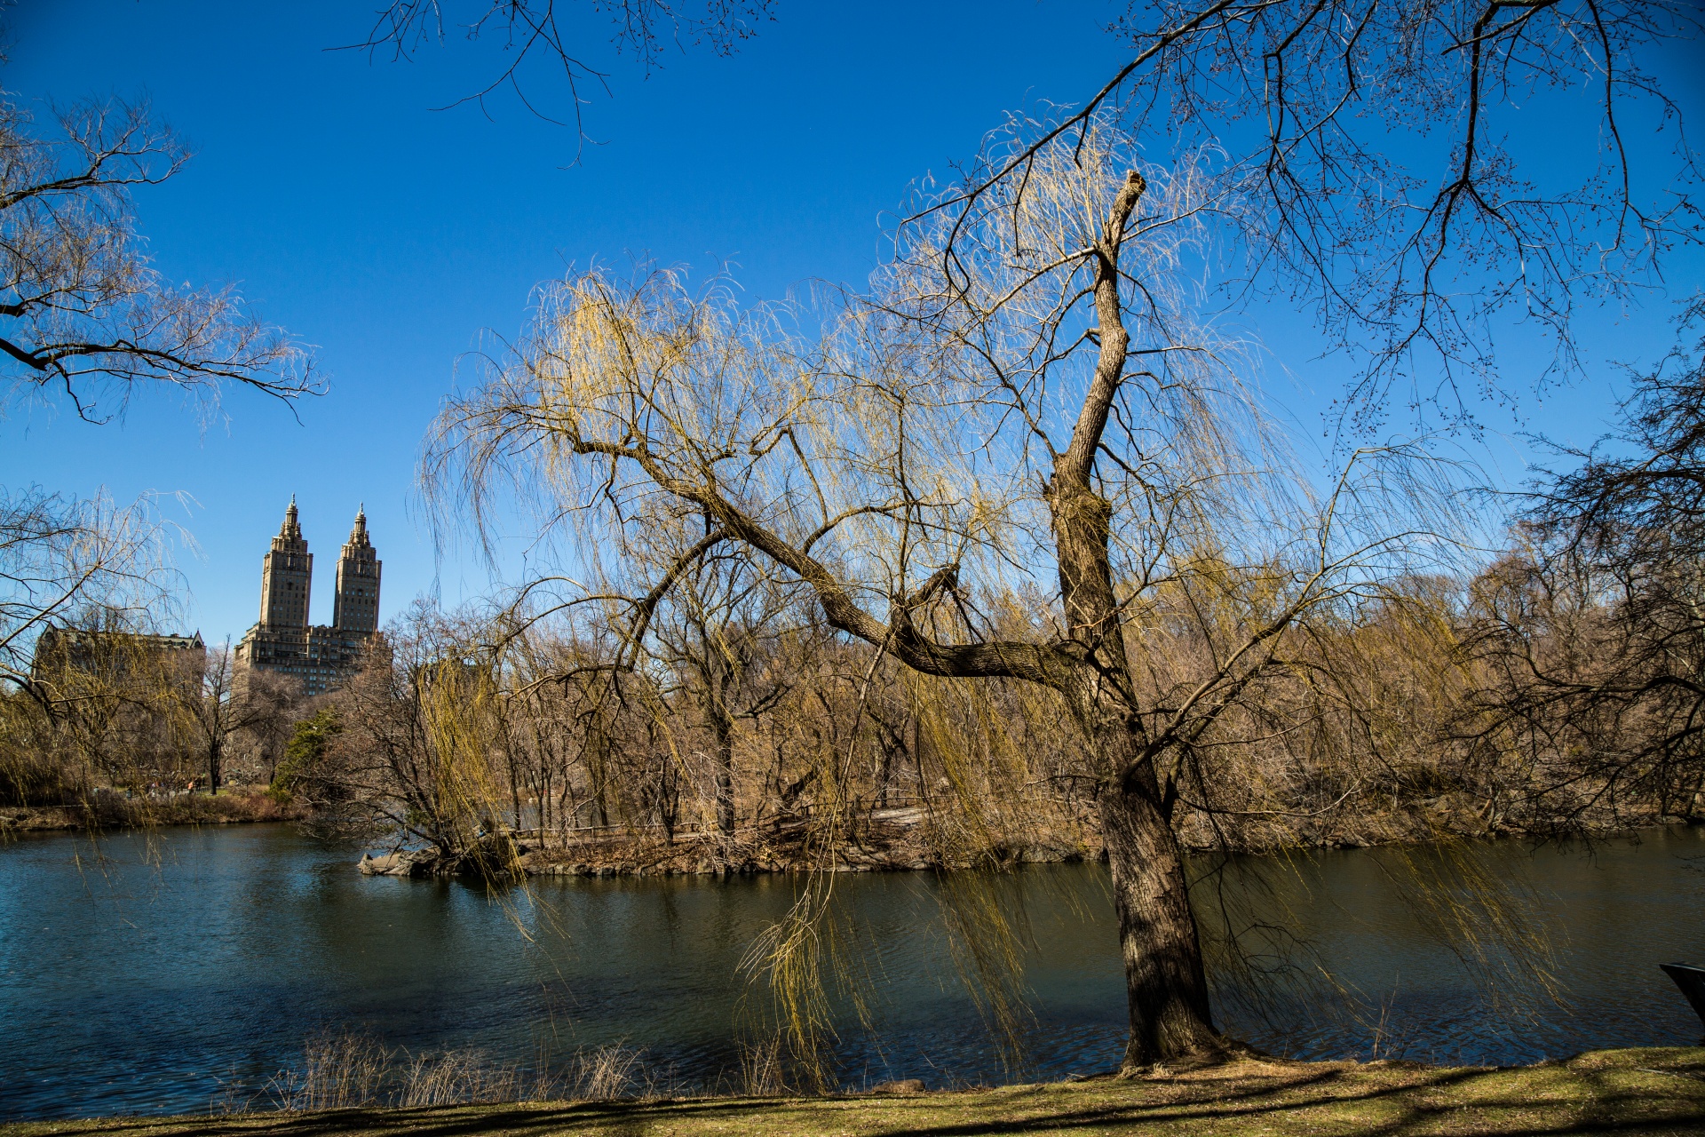
<instances>
[{"instance_id":1,"label":"brown leafless treeline along the far shore of the lake","mask_svg":"<svg viewBox=\"0 0 1705 1137\"><path fill-rule=\"evenodd\" d=\"M1170 755L1180 839L1265 851L1705 817L1696 561L1657 564L1623 532L1615 547L1645 563L1601 547L1592 564L1557 518L1516 532L1528 544L1471 580L1412 578L1287 629L1284 667ZM1262 585L1241 573L1226 586ZM832 854L900 806L922 811L939 864L1098 851L1096 774L1057 695L919 675L762 581L745 600L692 605L638 661L595 627L416 603L317 699L234 673L225 648L95 626L99 649L46 660L0 702L0 803L147 820L148 801L235 781L464 866L503 832L691 840L738 864L805 827ZM1057 619L1040 597L977 607L1008 639ZM1130 620L1156 713L1214 667L1200 627L1165 602ZM114 791L123 817L95 808Z\"/></svg>"}]
</instances>

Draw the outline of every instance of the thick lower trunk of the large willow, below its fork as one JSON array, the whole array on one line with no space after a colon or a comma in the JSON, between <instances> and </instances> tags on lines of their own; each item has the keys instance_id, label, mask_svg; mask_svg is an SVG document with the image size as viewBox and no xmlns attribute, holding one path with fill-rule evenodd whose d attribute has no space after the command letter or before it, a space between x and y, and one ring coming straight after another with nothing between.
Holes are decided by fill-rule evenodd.
<instances>
[{"instance_id":1,"label":"thick lower trunk of the large willow, below its fork","mask_svg":"<svg viewBox=\"0 0 1705 1137\"><path fill-rule=\"evenodd\" d=\"M1117 755L1134 740L1105 742ZM1183 852L1161 810L1153 769L1129 765L1122 779L1101 789L1098 806L1130 1014L1124 1069L1224 1053L1228 1042L1209 1013Z\"/></svg>"}]
</instances>

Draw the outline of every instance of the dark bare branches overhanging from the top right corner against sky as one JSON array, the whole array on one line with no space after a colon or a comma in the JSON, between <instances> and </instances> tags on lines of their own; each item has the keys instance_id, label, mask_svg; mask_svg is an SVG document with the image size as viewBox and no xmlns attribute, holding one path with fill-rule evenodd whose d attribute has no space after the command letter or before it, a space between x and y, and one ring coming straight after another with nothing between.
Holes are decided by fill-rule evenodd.
<instances>
[{"instance_id":1,"label":"dark bare branches overhanging from the top right corner against sky","mask_svg":"<svg viewBox=\"0 0 1705 1137\"><path fill-rule=\"evenodd\" d=\"M1581 305L1635 300L1698 244L1702 169L1661 72L1700 29L1686 0L1132 0L1130 61L963 194L1021 201L1037 147L1108 113L1219 145L1251 208L1241 285L1315 309L1354 363L1340 407L1371 426L1396 394L1463 421L1579 373ZM1511 382L1499 344L1526 366L1521 332L1550 358Z\"/></svg>"}]
</instances>

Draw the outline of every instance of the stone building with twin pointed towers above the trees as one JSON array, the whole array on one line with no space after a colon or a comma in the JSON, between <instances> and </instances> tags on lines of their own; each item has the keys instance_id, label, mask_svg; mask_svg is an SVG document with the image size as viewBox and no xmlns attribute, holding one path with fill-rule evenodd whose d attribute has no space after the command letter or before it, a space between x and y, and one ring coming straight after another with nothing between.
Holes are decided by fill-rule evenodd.
<instances>
[{"instance_id":1,"label":"stone building with twin pointed towers above the trees","mask_svg":"<svg viewBox=\"0 0 1705 1137\"><path fill-rule=\"evenodd\" d=\"M302 537L297 499L290 498L285 523L261 557L261 620L237 644L242 670L276 672L302 684L309 695L336 687L360 665L368 639L379 631L379 576L384 563L367 535L367 510L338 557L338 583L331 626L309 626L314 593L314 554Z\"/></svg>"}]
</instances>

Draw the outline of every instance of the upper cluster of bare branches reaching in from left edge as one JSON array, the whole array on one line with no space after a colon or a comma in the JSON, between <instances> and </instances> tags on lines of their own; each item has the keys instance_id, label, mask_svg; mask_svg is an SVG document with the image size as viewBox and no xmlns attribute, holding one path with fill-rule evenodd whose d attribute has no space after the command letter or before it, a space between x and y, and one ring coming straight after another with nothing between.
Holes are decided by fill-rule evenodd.
<instances>
[{"instance_id":1,"label":"upper cluster of bare branches reaching in from left edge","mask_svg":"<svg viewBox=\"0 0 1705 1137\"><path fill-rule=\"evenodd\" d=\"M5 401L55 394L89 421L142 384L210 399L227 384L315 390L303 351L232 288L174 288L148 266L130 193L189 152L147 106L80 102L49 126L0 104L0 380Z\"/></svg>"}]
</instances>

